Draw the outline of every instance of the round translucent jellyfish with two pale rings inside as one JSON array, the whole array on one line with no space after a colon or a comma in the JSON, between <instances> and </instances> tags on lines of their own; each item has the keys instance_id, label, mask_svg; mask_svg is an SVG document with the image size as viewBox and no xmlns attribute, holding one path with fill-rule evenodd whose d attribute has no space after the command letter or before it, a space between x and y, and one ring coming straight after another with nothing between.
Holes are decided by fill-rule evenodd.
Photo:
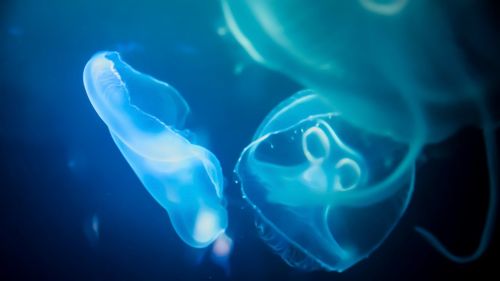
<instances>
[{"instance_id":1,"label":"round translucent jellyfish with two pale rings inside","mask_svg":"<svg viewBox=\"0 0 500 281\"><path fill-rule=\"evenodd\" d=\"M408 151L302 91L263 121L235 172L262 239L288 264L343 271L389 235L410 200L414 171L391 183L399 186L394 193L364 201L345 196L384 182Z\"/></svg>"}]
</instances>

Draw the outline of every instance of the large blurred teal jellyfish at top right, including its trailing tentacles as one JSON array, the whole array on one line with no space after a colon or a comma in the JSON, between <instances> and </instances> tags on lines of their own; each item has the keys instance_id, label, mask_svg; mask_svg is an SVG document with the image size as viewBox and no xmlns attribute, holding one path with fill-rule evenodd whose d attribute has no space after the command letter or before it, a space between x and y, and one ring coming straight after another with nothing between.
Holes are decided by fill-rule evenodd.
<instances>
[{"instance_id":1,"label":"large blurred teal jellyfish at top right, including its trailing tentacles","mask_svg":"<svg viewBox=\"0 0 500 281\"><path fill-rule=\"evenodd\" d=\"M481 256L491 238L496 212L498 167L494 130L500 121L496 95L500 34L493 25L492 5L472 0L344 0L314 4L305 0L222 1L229 30L255 61L314 90L323 97L322 106L327 111L339 114L354 128L408 146L385 179L365 189L325 195L324 204L370 206L397 196L407 185L395 183L411 173L423 146L442 142L465 126L483 129L490 195L476 251L457 256L427 230L417 228L437 250L455 262ZM312 116L310 110L294 114L294 126ZM276 135L281 135L284 127L276 129ZM345 137L343 132L337 134L340 139ZM256 137L259 140L260 134ZM239 173L246 159L250 163L264 161L249 156L258 155L260 143L257 141L247 149L240 160ZM367 170L380 164L369 164ZM251 168L244 170L247 169ZM245 176L243 190L248 193L244 179ZM269 183L268 179L250 180L258 181L259 186ZM296 182L286 177L280 180ZM312 198L311 202L320 204ZM308 247L304 246L302 252L307 252Z\"/></svg>"}]
</instances>

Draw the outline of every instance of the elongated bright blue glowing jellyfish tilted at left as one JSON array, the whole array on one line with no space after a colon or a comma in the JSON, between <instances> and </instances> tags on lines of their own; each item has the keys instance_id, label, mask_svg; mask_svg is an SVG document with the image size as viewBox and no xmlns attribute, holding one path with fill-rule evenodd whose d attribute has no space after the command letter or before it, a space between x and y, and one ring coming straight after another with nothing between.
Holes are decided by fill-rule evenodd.
<instances>
[{"instance_id":1,"label":"elongated bright blue glowing jellyfish tilted at left","mask_svg":"<svg viewBox=\"0 0 500 281\"><path fill-rule=\"evenodd\" d=\"M212 243L227 226L217 158L190 142L189 107L168 84L142 74L116 52L94 55L85 89L116 145L153 198L192 247Z\"/></svg>"}]
</instances>

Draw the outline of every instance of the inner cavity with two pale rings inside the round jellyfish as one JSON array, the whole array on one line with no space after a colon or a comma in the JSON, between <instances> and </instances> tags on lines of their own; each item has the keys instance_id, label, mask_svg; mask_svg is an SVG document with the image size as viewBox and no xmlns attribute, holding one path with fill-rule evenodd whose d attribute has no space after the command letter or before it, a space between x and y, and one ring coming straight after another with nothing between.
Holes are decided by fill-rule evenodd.
<instances>
[{"instance_id":1,"label":"inner cavity with two pale rings inside the round jellyfish","mask_svg":"<svg viewBox=\"0 0 500 281\"><path fill-rule=\"evenodd\" d=\"M280 150L293 152L298 146L297 155L293 157L302 156L300 163L262 161L259 157L266 157L265 146L252 147L258 151L249 152L249 157L261 180L268 182L265 186L271 187L270 201L286 205L317 204L324 201L327 193L352 190L362 182L361 167L365 166L362 157L342 143L323 118L328 115L308 118L288 132L267 135L265 143L270 149L281 146ZM291 139L283 144L280 134L291 135ZM281 188L272 188L275 186Z\"/></svg>"}]
</instances>

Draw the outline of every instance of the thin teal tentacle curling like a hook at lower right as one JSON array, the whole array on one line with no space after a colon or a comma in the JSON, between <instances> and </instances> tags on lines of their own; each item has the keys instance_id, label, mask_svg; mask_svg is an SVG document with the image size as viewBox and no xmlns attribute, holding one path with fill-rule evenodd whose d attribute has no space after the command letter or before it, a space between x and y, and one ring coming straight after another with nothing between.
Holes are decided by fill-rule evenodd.
<instances>
[{"instance_id":1,"label":"thin teal tentacle curling like a hook at lower right","mask_svg":"<svg viewBox=\"0 0 500 281\"><path fill-rule=\"evenodd\" d=\"M495 138L495 126L492 122L489 122L484 128L484 142L486 147L486 160L489 171L489 200L488 200L488 210L486 214L486 221L484 223L483 232L481 234L481 239L476 250L465 256L459 256L453 254L446 246L439 241L439 239L428 230L423 227L415 227L417 231L427 242L435 248L439 253L445 256L447 259L455 263L469 263L480 258L491 241L493 230L495 227L496 209L497 209L497 189L498 189L498 160L497 160L497 147Z\"/></svg>"}]
</instances>

